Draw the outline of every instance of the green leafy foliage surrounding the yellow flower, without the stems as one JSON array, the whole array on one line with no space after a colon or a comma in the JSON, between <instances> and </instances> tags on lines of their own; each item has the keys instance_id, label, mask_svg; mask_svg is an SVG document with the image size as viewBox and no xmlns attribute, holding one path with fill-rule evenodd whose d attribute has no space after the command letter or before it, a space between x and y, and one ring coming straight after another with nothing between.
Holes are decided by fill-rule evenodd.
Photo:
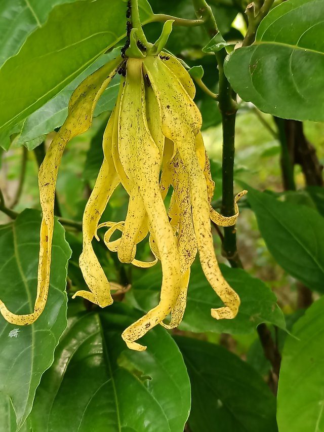
<instances>
[{"instance_id":1,"label":"green leafy foliage surrounding the yellow flower, without the stems","mask_svg":"<svg viewBox=\"0 0 324 432\"><path fill-rule=\"evenodd\" d=\"M247 2L208 3L224 40L242 41ZM69 144L60 167L57 216L63 220L55 226L46 309L23 328L0 317L0 432L324 431L324 189L320 181L309 184L295 165L296 187L287 190L281 177L288 142L277 120L303 121L312 154L324 163L324 4L280 3L261 22L256 42L225 61L239 96L235 189L249 190L237 222L244 269L227 265L213 233L222 272L241 297L237 317L211 318L210 308L221 302L195 262L179 329L156 327L144 337L147 351L128 350L120 334L157 303L161 271L121 264L101 243L94 248L109 279L131 289L117 292L114 305L102 310L71 300L85 288L78 267L80 221L101 165L116 77L98 103L91 130ZM161 29L161 23L150 23L153 12L195 18L189 0L139 5L150 41ZM11 216L19 213L14 220L0 213L0 298L18 313L31 310L35 297L39 160L65 120L73 90L124 44L125 11L123 0L0 4L0 187ZM204 83L217 92L215 57L202 50L209 42L203 26L175 26L167 49L189 67L203 66ZM221 113L198 86L195 102L203 115L216 182L213 205L219 210ZM127 204L126 192L118 188L103 218L123 219ZM138 252L149 256L145 245ZM282 356L278 383L265 329Z\"/></svg>"}]
</instances>

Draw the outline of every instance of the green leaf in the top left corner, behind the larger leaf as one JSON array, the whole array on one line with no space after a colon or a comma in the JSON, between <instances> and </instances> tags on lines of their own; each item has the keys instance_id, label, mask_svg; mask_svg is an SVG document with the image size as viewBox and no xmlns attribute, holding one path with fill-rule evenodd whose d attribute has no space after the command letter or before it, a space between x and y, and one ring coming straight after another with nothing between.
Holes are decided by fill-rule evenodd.
<instances>
[{"instance_id":1,"label":"green leaf in the top left corner, behind the larger leaf","mask_svg":"<svg viewBox=\"0 0 324 432\"><path fill-rule=\"evenodd\" d=\"M2 0L0 4L0 66L17 54L28 35L41 27L52 8L75 0Z\"/></svg>"}]
</instances>

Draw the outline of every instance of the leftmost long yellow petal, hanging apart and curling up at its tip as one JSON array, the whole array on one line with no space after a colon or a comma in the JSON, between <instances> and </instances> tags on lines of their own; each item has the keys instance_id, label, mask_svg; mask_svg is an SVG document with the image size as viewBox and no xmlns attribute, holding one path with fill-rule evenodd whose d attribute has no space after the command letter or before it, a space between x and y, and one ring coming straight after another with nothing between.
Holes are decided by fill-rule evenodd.
<instances>
[{"instance_id":1,"label":"leftmost long yellow petal, hanging apart and curling up at its tip","mask_svg":"<svg viewBox=\"0 0 324 432\"><path fill-rule=\"evenodd\" d=\"M86 132L90 128L95 105L115 75L120 62L120 57L112 60L88 76L75 89L69 102L67 119L52 141L39 169L39 198L43 211L43 220L39 243L36 300L34 311L26 315L16 315L10 312L5 304L0 301L2 315L12 324L31 324L44 310L50 283L55 186L63 150L73 137Z\"/></svg>"}]
</instances>

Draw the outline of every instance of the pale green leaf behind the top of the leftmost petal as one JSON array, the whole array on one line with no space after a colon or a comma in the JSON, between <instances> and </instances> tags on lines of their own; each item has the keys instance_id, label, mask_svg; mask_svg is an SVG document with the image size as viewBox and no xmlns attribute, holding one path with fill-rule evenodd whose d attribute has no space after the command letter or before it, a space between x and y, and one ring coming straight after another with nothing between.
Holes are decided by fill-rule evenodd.
<instances>
[{"instance_id":1,"label":"pale green leaf behind the top of the leftmost petal","mask_svg":"<svg viewBox=\"0 0 324 432\"><path fill-rule=\"evenodd\" d=\"M111 53L101 56L58 95L29 115L23 121L21 132L15 138L14 144L16 146L26 145L29 150L32 150L44 141L45 135L52 132L55 128L62 126L67 116L69 99L76 87L88 75L99 69L99 67L107 63L109 60L113 59L117 54L118 50L113 50ZM96 105L94 117L100 115L104 111L113 109L118 94L119 80L119 75L116 75L104 91Z\"/></svg>"}]
</instances>

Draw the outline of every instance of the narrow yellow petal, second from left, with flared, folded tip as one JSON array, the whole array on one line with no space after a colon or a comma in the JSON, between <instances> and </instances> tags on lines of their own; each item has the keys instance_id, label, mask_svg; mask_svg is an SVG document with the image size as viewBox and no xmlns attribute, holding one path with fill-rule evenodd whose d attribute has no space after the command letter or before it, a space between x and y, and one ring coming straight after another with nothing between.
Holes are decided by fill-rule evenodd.
<instances>
[{"instance_id":1,"label":"narrow yellow petal, second from left, with flared, folded tip","mask_svg":"<svg viewBox=\"0 0 324 432\"><path fill-rule=\"evenodd\" d=\"M84 297L101 307L111 304L112 297L110 284L91 242L107 203L119 183L111 154L114 116L115 111L112 112L103 135L104 160L83 216L83 251L79 258L79 265L90 291L77 291L72 297Z\"/></svg>"}]
</instances>

